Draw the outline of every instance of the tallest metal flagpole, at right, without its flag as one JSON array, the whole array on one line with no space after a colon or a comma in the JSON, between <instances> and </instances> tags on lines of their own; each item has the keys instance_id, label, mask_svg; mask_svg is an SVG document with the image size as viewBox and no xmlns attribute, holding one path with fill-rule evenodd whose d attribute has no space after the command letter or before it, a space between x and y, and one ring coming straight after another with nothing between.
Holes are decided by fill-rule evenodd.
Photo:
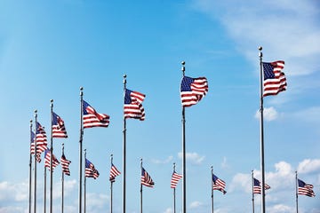
<instances>
[{"instance_id":1,"label":"tallest metal flagpole, at right, without its flag","mask_svg":"<svg viewBox=\"0 0 320 213\"><path fill-rule=\"evenodd\" d=\"M261 213L265 213L265 168L264 168L264 132L263 132L263 71L262 71L262 47L259 47L260 58L260 168L261 168Z\"/></svg>"}]
</instances>

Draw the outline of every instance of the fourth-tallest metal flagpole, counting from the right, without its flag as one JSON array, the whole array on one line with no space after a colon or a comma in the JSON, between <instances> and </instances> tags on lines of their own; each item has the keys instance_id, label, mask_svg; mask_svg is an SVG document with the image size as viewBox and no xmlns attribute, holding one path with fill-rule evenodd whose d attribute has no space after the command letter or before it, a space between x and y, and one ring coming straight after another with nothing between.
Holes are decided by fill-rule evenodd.
<instances>
[{"instance_id":1,"label":"fourth-tallest metal flagpole, counting from the right, without its flag","mask_svg":"<svg viewBox=\"0 0 320 213\"><path fill-rule=\"evenodd\" d=\"M80 139L79 139L79 213L82 212L82 142L84 136L84 125L83 125L83 92L84 88L80 87Z\"/></svg>"}]
</instances>

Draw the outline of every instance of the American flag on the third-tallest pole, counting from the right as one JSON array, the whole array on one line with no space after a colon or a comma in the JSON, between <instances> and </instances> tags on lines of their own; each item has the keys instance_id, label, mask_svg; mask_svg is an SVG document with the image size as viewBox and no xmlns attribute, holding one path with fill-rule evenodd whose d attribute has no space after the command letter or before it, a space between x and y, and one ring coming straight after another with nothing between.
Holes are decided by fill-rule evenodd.
<instances>
[{"instance_id":1,"label":"American flag on the third-tallest pole, counting from the right","mask_svg":"<svg viewBox=\"0 0 320 213\"><path fill-rule=\"evenodd\" d=\"M124 118L135 118L143 121L146 114L141 103L145 98L146 95L138 91L130 91L125 89Z\"/></svg>"}]
</instances>

